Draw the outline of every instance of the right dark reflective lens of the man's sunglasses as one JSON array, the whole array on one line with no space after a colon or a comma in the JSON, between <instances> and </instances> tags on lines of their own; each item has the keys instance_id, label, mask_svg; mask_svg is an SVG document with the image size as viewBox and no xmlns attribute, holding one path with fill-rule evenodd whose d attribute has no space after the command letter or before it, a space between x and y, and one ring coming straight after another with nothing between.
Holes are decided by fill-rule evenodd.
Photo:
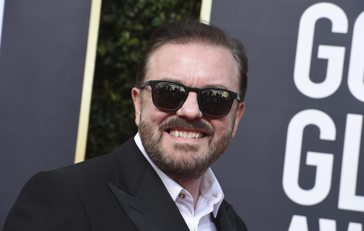
<instances>
[{"instance_id":1,"label":"right dark reflective lens of the man's sunglasses","mask_svg":"<svg viewBox=\"0 0 364 231\"><path fill-rule=\"evenodd\" d=\"M231 95L223 90L207 89L200 94L201 109L210 116L223 116L230 108Z\"/></svg>"}]
</instances>

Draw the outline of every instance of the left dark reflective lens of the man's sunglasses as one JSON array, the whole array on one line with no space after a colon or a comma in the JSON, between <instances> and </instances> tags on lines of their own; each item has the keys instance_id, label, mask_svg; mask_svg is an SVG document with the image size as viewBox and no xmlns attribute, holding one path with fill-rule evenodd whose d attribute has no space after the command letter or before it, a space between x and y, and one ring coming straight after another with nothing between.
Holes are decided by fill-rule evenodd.
<instances>
[{"instance_id":1,"label":"left dark reflective lens of the man's sunglasses","mask_svg":"<svg viewBox=\"0 0 364 231\"><path fill-rule=\"evenodd\" d=\"M185 88L178 84L159 82L155 84L153 100L160 108L174 110L181 105L185 99L185 94Z\"/></svg>"}]
</instances>

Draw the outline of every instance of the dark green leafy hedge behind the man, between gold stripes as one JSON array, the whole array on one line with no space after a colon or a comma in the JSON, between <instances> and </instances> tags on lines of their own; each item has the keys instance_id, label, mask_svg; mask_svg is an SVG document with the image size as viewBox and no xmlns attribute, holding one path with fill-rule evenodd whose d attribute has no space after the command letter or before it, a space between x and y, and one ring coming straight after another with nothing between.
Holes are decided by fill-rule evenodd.
<instances>
[{"instance_id":1,"label":"dark green leafy hedge behind the man, between gold stripes","mask_svg":"<svg viewBox=\"0 0 364 231\"><path fill-rule=\"evenodd\" d=\"M113 152L137 133L131 89L153 28L197 17L201 0L103 0L86 159Z\"/></svg>"}]
</instances>

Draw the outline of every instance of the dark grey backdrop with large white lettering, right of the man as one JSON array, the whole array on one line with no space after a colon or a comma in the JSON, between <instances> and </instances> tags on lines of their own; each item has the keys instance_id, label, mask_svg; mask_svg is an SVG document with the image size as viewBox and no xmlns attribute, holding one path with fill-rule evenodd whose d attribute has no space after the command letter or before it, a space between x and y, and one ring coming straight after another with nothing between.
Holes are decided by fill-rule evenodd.
<instances>
[{"instance_id":1,"label":"dark grey backdrop with large white lettering, right of the man","mask_svg":"<svg viewBox=\"0 0 364 231\"><path fill-rule=\"evenodd\" d=\"M249 58L246 110L213 166L249 230L364 230L363 11L362 0L213 0L211 22Z\"/></svg>"}]
</instances>

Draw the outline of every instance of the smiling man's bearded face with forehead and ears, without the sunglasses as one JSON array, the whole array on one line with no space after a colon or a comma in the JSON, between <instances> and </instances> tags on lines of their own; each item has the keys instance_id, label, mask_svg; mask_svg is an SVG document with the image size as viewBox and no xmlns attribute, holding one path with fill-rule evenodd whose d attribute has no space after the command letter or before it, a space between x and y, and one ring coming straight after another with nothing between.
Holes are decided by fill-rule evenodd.
<instances>
[{"instance_id":1,"label":"smiling man's bearded face with forehead and ears, without the sunglasses","mask_svg":"<svg viewBox=\"0 0 364 231\"><path fill-rule=\"evenodd\" d=\"M236 73L236 63L227 50L199 44L166 44L152 56L146 81L170 80L188 87L219 87L238 92ZM135 122L147 154L174 179L200 177L225 152L244 112L244 103L234 100L225 117L203 115L197 104L197 92L189 92L177 111L155 107L150 86L143 88L143 92L133 88L132 96ZM176 137L177 132L199 134L199 139Z\"/></svg>"}]
</instances>

